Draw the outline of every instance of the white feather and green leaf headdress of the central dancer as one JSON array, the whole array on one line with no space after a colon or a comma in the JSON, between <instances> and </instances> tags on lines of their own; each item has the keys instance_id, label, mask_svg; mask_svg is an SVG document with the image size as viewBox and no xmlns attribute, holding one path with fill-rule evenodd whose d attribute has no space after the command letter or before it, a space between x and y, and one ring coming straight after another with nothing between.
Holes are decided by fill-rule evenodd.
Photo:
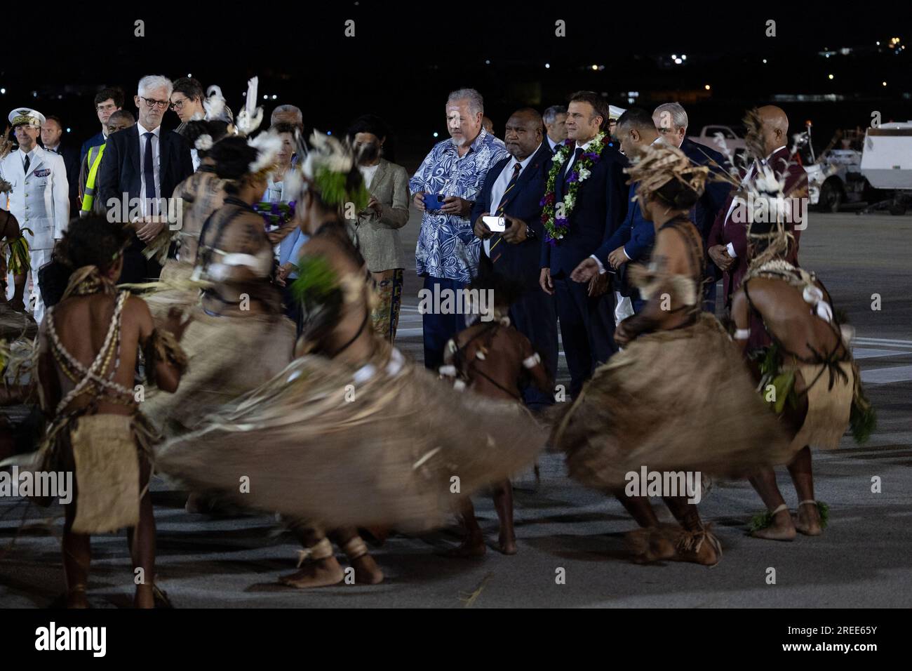
<instances>
[{"instance_id":1,"label":"white feather and green leaf headdress of the central dancer","mask_svg":"<svg viewBox=\"0 0 912 671\"><path fill-rule=\"evenodd\" d=\"M299 149L301 144L299 139ZM327 205L344 207L351 203L355 212L367 207L370 194L351 147L317 131L310 136L310 146L306 158L285 175L285 194L300 202L301 196L313 189Z\"/></svg>"}]
</instances>

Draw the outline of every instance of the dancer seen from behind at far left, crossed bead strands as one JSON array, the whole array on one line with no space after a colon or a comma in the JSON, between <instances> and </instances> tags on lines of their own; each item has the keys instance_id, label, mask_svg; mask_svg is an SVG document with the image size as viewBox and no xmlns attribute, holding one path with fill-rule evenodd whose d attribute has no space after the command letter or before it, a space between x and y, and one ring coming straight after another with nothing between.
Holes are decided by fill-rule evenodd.
<instances>
[{"instance_id":1,"label":"dancer seen from behind at far left, crossed bead strands","mask_svg":"<svg viewBox=\"0 0 912 671\"><path fill-rule=\"evenodd\" d=\"M149 383L174 392L186 367L177 344L185 324L172 313L156 329L146 304L115 287L129 244L127 229L104 217L74 219L60 243L72 274L38 335L40 395L50 425L33 466L74 475L63 534L69 607L88 605L89 534L124 527L140 578L134 604L151 608L157 595L149 492L157 435L140 413L134 373L141 351Z\"/></svg>"}]
</instances>

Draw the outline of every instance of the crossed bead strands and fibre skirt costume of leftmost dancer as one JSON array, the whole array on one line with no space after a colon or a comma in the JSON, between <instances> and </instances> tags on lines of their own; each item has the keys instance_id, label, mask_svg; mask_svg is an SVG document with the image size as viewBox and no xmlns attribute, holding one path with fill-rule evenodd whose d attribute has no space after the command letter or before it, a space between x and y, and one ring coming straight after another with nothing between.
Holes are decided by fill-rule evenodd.
<instances>
[{"instance_id":1,"label":"crossed bead strands and fibre skirt costume of leftmost dancer","mask_svg":"<svg viewBox=\"0 0 912 671\"><path fill-rule=\"evenodd\" d=\"M64 347L57 335L55 307L47 310L47 337L60 371L74 383L57 404L47 436L34 456L41 471L70 471L78 483L77 533L99 533L135 526L140 519L140 461L152 457L158 435L140 413L134 391L114 382L120 364L121 316L129 293L117 292L98 268L78 268L64 299L70 296L110 294L114 300L105 340L88 366ZM167 331L153 330L144 348L147 371L168 361L184 370L181 346ZM154 383L154 378L150 383ZM100 402L122 405L126 414L98 412Z\"/></svg>"}]
</instances>

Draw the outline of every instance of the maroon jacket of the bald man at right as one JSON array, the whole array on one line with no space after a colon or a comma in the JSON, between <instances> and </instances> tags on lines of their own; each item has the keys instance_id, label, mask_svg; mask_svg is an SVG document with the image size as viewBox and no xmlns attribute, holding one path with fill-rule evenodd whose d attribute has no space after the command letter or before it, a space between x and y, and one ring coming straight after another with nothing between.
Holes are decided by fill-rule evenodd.
<instances>
[{"instance_id":1,"label":"maroon jacket of the bald man at right","mask_svg":"<svg viewBox=\"0 0 912 671\"><path fill-rule=\"evenodd\" d=\"M770 157L769 164L777 179L781 180L782 175L785 176L784 192L786 195L792 194L793 196L798 197L804 192L803 195L806 196L807 173L804 172L804 168L801 165L789 161L789 150L787 147L782 147L778 152L774 152ZM731 294L741 287L741 280L744 278L745 273L747 273L748 267L747 225L733 221L732 219L734 217L729 215L729 209L731 208L731 202L734 199L734 196L735 192L732 191L726 199L725 204L720 209L719 215L712 225L710 238L707 242L708 246L728 245L731 243L731 246L734 247L735 254L737 255L734 263L731 264L731 268L729 268L728 272L723 274L726 304L731 303ZM786 228L791 231L795 237L795 244L787 259L789 263L797 266L798 243L801 239L801 231L794 230L792 223L788 223Z\"/></svg>"}]
</instances>

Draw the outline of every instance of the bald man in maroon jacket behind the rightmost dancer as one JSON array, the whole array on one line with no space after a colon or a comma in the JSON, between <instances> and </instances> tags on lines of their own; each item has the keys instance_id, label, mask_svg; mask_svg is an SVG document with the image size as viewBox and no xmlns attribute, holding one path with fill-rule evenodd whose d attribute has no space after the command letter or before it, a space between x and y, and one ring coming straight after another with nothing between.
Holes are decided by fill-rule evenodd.
<instances>
[{"instance_id":1,"label":"bald man in maroon jacket behind the rightmost dancer","mask_svg":"<svg viewBox=\"0 0 912 671\"><path fill-rule=\"evenodd\" d=\"M792 156L788 148L789 118L775 105L765 105L757 110L762 121L762 140L766 158L762 166L769 166L776 179L785 180L782 189L785 200L785 227L793 233L795 242L787 260L798 265L798 242L807 225L807 173ZM754 161L743 181L758 176L758 162ZM739 197L736 201L735 198ZM712 262L724 271L725 305L731 307L731 295L741 286L741 279L747 272L747 216L751 208L744 204L741 190L732 191L726 204L720 209L710 232L709 255Z\"/></svg>"}]
</instances>

